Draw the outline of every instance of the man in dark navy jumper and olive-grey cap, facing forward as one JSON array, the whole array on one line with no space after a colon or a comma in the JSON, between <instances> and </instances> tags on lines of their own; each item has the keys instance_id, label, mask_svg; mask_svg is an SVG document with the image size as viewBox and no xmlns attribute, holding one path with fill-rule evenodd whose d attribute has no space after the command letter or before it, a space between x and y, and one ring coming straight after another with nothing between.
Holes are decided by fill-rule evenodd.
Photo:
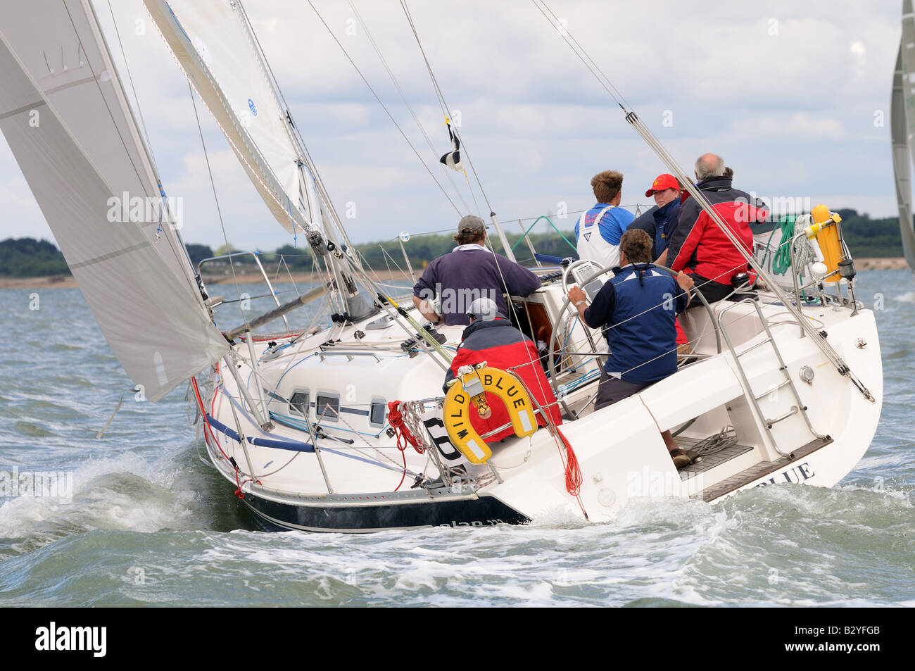
<instances>
[{"instance_id":1,"label":"man in dark navy jumper and olive-grey cap, facing forward","mask_svg":"<svg viewBox=\"0 0 915 671\"><path fill-rule=\"evenodd\" d=\"M494 300L507 315L502 292L524 297L540 288L537 276L523 265L490 252L483 246L485 240L482 219L468 215L460 220L454 236L458 246L427 265L413 287L413 303L425 319L434 324L444 321L447 326L466 326L469 305L482 297ZM440 301L437 309L436 296Z\"/></svg>"}]
</instances>

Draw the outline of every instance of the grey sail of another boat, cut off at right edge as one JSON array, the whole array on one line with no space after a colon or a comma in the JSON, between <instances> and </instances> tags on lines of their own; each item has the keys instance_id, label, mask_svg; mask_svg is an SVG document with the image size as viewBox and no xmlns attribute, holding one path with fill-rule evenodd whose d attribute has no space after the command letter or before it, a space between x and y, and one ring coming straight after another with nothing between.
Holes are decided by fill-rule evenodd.
<instances>
[{"instance_id":1,"label":"grey sail of another boat, cut off at right edge","mask_svg":"<svg viewBox=\"0 0 915 671\"><path fill-rule=\"evenodd\" d=\"M899 203L899 232L906 261L915 270L915 229L912 222L911 162L915 160L915 15L911 0L902 2L902 38L893 75L890 105L890 129L893 136L893 174Z\"/></svg>"}]
</instances>

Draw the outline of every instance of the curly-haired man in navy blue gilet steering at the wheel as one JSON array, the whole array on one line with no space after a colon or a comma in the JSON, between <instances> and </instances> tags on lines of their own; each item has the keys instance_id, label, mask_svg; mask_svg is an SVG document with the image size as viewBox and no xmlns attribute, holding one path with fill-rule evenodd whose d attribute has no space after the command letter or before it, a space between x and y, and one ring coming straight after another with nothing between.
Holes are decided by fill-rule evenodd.
<instances>
[{"instance_id":1,"label":"curly-haired man in navy blue gilet steering at the wheel","mask_svg":"<svg viewBox=\"0 0 915 671\"><path fill-rule=\"evenodd\" d=\"M693 280L680 273L676 279L651 264L651 238L636 229L623 234L619 263L587 307L579 287L569 289L569 301L592 329L607 328L610 355L600 372L594 409L610 406L637 394L677 370L677 313L689 304ZM690 463L670 431L662 433L673 464Z\"/></svg>"}]
</instances>

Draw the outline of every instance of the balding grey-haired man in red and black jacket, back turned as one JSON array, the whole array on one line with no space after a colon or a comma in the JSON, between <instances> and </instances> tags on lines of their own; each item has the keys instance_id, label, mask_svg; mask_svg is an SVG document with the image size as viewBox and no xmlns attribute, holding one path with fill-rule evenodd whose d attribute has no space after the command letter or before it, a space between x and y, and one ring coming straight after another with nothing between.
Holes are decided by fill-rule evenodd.
<instances>
[{"instance_id":1,"label":"balding grey-haired man in red and black jacket, back turned","mask_svg":"<svg viewBox=\"0 0 915 671\"><path fill-rule=\"evenodd\" d=\"M765 222L769 211L746 191L734 189L725 176L725 161L716 154L696 159L696 188L705 194L716 213L738 240L738 249L691 196L680 206L680 219L667 247L666 265L693 277L695 288L709 303L734 292L733 280L748 272L753 253L750 223ZM733 174L733 172L731 173Z\"/></svg>"}]
</instances>

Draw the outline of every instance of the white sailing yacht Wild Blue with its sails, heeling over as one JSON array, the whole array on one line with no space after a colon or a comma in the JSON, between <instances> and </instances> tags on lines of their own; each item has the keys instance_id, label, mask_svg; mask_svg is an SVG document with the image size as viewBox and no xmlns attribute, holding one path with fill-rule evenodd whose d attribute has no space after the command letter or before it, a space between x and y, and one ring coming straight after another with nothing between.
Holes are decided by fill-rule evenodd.
<instances>
[{"instance_id":1,"label":"white sailing yacht Wild Blue with its sails, heeling over","mask_svg":"<svg viewBox=\"0 0 915 671\"><path fill-rule=\"evenodd\" d=\"M124 370L153 401L189 381L227 495L265 528L606 522L643 498L833 486L867 450L883 391L877 328L855 299L852 254L828 208L781 229L774 244L790 254L788 276L762 263L770 243L760 243L747 257L761 279L755 292L738 287L689 310L691 352L637 395L592 409L606 341L566 294L599 287L612 270L567 260L536 268L543 286L532 295L508 297L518 328L545 343L542 359L522 365L544 366L562 422L546 419L516 370L459 371L446 393L462 327L426 324L409 295L393 295L361 263L242 3L144 2L268 211L304 241L317 287L281 303L264 274L275 308L217 328L218 301L169 225L166 187L89 0L6 3L0 129ZM623 112L727 234L638 115ZM158 220L112 222L109 202L124 192L160 201ZM327 302L324 328L288 324L315 301ZM455 426L453 417L504 403L506 388L521 409L512 402L511 424L490 433L511 427L509 438ZM679 471L666 430L693 459Z\"/></svg>"}]
</instances>

